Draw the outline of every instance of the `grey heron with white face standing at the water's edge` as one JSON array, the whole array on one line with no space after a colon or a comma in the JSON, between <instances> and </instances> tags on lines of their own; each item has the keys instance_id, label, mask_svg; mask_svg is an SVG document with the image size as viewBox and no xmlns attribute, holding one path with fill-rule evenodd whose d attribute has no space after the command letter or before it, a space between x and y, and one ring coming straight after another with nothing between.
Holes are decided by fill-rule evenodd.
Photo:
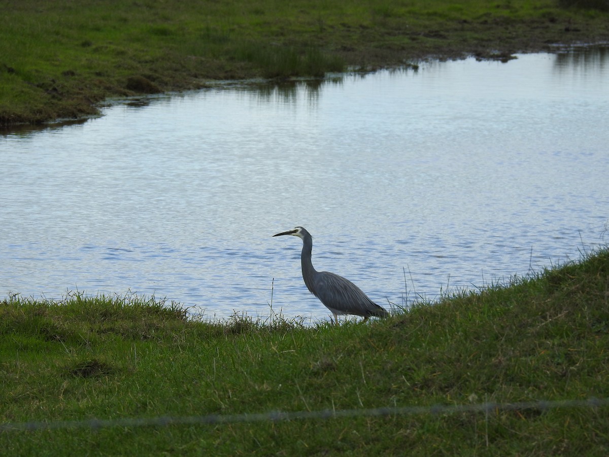
<instances>
[{"instance_id":1,"label":"grey heron with white face standing at the water's edge","mask_svg":"<svg viewBox=\"0 0 609 457\"><path fill-rule=\"evenodd\" d=\"M370 300L362 289L350 280L329 271L317 271L311 262L313 238L303 227L294 227L287 232L276 233L273 236L293 235L303 240L303 250L300 261L303 269L303 280L309 292L317 297L328 310L334 314L334 324L338 324L339 314L354 314L364 317L386 317L389 313L382 306Z\"/></svg>"}]
</instances>

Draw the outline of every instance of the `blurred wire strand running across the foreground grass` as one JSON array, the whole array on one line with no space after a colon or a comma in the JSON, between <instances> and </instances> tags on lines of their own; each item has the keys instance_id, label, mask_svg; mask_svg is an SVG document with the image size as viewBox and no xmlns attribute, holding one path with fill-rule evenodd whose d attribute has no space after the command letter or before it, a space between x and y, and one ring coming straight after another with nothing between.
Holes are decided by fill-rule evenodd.
<instances>
[{"instance_id":1,"label":"blurred wire strand running across the foreground grass","mask_svg":"<svg viewBox=\"0 0 609 457\"><path fill-rule=\"evenodd\" d=\"M281 422L301 419L334 419L354 416L422 416L449 415L456 413L499 413L500 411L538 410L558 408L597 409L609 406L609 399L552 400L519 403L473 403L470 405L396 406L370 409L322 409L319 411L272 411L255 414L206 414L203 416L157 416L128 417L124 419L85 419L0 423L0 431L57 430L62 428L109 428L109 427L167 427L169 425L222 424L243 422Z\"/></svg>"}]
</instances>

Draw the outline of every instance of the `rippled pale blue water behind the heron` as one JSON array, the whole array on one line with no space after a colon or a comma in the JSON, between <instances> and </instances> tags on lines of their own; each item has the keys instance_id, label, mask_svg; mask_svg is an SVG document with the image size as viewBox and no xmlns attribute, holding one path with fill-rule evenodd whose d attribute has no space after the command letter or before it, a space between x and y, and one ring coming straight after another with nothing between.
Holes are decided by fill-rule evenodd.
<instances>
[{"instance_id":1,"label":"rippled pale blue water behind the heron","mask_svg":"<svg viewBox=\"0 0 609 457\"><path fill-rule=\"evenodd\" d=\"M609 58L429 62L118 103L0 136L0 296L166 297L327 319L313 261L387 306L606 243Z\"/></svg>"}]
</instances>

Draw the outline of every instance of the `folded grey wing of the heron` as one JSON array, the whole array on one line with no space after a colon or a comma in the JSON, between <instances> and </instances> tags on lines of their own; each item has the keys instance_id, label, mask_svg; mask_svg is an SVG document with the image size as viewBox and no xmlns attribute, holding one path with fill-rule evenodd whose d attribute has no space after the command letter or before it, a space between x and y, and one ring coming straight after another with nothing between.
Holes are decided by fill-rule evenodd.
<instances>
[{"instance_id":1,"label":"folded grey wing of the heron","mask_svg":"<svg viewBox=\"0 0 609 457\"><path fill-rule=\"evenodd\" d=\"M320 271L315 275L314 283L317 298L331 310L364 317L387 314L387 311L370 300L362 289L342 276Z\"/></svg>"}]
</instances>

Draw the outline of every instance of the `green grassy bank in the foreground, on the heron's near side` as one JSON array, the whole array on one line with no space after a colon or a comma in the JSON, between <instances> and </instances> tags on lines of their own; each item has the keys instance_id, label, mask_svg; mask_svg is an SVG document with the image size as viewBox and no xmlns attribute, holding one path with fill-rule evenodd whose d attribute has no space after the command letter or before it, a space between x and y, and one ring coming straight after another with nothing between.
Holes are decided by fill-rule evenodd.
<instances>
[{"instance_id":1,"label":"green grassy bank in the foreground, on the heron's near side","mask_svg":"<svg viewBox=\"0 0 609 457\"><path fill-rule=\"evenodd\" d=\"M609 250L369 324L0 302L1 423L609 398ZM609 406L0 431L9 455L607 455Z\"/></svg>"}]
</instances>

